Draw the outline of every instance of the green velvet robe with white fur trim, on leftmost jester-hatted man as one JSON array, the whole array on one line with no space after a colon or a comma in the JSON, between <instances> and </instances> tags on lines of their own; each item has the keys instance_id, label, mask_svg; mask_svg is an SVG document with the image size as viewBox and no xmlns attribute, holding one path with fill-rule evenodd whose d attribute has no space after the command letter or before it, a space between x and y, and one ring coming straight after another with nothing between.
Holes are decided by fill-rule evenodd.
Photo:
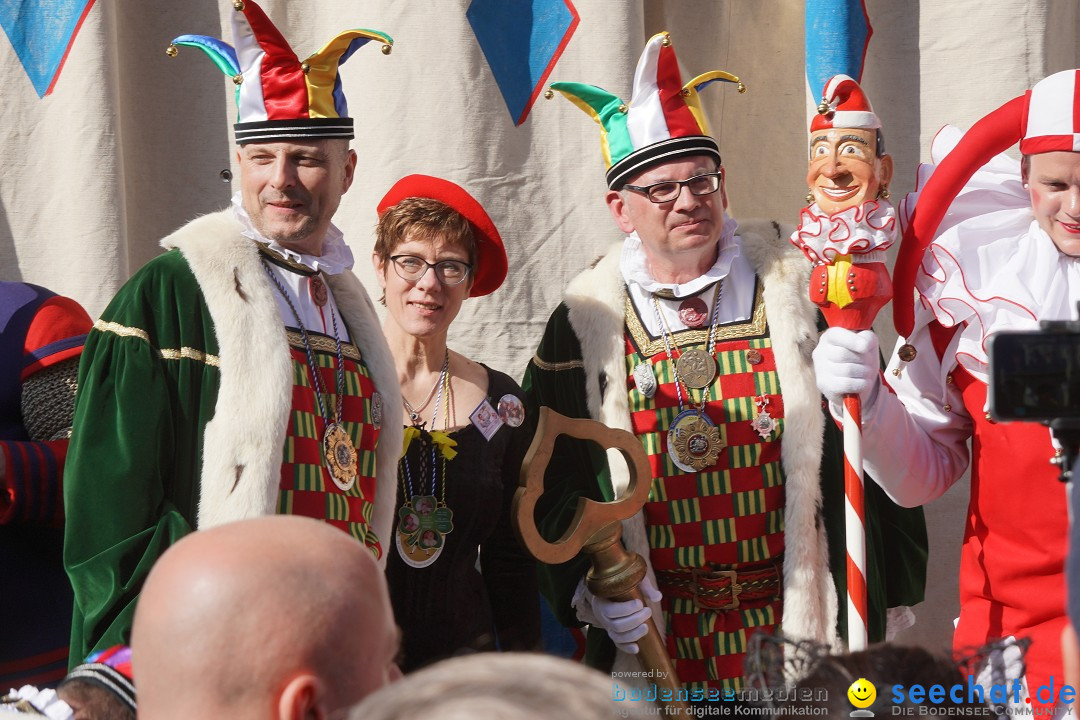
<instances>
[{"instance_id":1,"label":"green velvet robe with white fur trim, on leftmost jester-hatted man","mask_svg":"<svg viewBox=\"0 0 1080 720\"><path fill-rule=\"evenodd\" d=\"M157 558L195 528L276 510L292 359L274 290L231 212L162 243L86 339L65 468L71 662L127 643ZM327 276L375 388L400 394L366 291ZM389 539L401 406L383 403L372 526ZM384 558L382 560L384 562Z\"/></svg>"}]
</instances>

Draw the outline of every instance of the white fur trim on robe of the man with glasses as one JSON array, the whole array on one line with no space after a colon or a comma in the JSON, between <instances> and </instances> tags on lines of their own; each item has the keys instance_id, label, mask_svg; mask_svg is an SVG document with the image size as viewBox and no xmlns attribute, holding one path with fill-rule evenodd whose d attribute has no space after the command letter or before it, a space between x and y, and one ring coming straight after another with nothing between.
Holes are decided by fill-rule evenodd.
<instances>
[{"instance_id":1,"label":"white fur trim on robe of the man with glasses","mask_svg":"<svg viewBox=\"0 0 1080 720\"><path fill-rule=\"evenodd\" d=\"M750 264L762 282L777 372L784 395L785 434L781 459L786 477L784 631L837 644L836 589L821 511L824 416L810 353L818 341L816 311L807 287L810 263L787 237L793 228L748 221L739 236ZM590 416L610 427L631 430L630 407L622 386L625 369L623 324L625 285L620 272L622 244L612 246L596 266L575 277L564 296L570 325L581 343L585 399ZM606 392L600 392L602 377ZM626 488L625 463L611 463L616 492ZM648 561L643 514L623 522L623 542ZM656 580L651 563L649 575ZM654 616L660 608L653 607ZM619 654L616 667L631 667Z\"/></svg>"}]
</instances>

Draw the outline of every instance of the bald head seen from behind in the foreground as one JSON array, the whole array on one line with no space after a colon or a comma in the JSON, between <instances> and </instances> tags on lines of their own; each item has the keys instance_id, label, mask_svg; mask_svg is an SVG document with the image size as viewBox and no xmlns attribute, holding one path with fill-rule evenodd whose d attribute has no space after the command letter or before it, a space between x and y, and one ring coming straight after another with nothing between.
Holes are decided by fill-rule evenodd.
<instances>
[{"instance_id":1,"label":"bald head seen from behind in the foreground","mask_svg":"<svg viewBox=\"0 0 1080 720\"><path fill-rule=\"evenodd\" d=\"M326 718L397 673L370 551L274 516L192 533L147 579L132 631L139 718Z\"/></svg>"}]
</instances>

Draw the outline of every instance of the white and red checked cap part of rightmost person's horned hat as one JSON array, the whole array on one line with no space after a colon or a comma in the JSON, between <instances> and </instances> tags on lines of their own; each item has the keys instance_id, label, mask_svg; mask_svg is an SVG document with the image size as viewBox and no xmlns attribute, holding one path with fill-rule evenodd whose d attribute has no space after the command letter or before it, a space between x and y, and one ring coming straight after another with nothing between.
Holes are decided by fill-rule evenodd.
<instances>
[{"instance_id":1,"label":"white and red checked cap part of rightmost person's horned hat","mask_svg":"<svg viewBox=\"0 0 1080 720\"><path fill-rule=\"evenodd\" d=\"M1027 98L1020 151L1080 152L1080 70L1064 70L1040 80Z\"/></svg>"}]
</instances>

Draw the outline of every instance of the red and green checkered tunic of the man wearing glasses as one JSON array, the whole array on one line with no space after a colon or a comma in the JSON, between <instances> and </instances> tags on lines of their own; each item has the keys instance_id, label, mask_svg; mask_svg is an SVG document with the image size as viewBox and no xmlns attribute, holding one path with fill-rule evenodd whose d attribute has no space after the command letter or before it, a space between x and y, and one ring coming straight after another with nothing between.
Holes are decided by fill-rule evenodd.
<instances>
[{"instance_id":1,"label":"red and green checkered tunic of the man wearing glasses","mask_svg":"<svg viewBox=\"0 0 1080 720\"><path fill-rule=\"evenodd\" d=\"M676 341L679 338L675 334ZM684 334L685 335L685 334ZM687 345L679 342L679 345ZM747 361L753 349L760 362ZM672 349L675 359L679 350ZM701 473L679 470L667 453L667 431L688 407L676 394L673 363L664 351L642 354L626 334L626 392L631 424L649 454L652 491L645 505L653 570L739 570L761 567L784 552L784 484L780 464L783 398L769 338L716 344L719 368L705 390L691 390L693 400L707 393L705 415L720 431L725 445L718 462ZM634 367L649 363L657 378L649 398L637 389ZM754 398L766 397L777 429L762 440L751 426L757 415ZM664 595L667 651L683 683L693 689L741 687L743 656L753 631L771 633L782 602L747 603L734 610L703 610L693 600Z\"/></svg>"}]
</instances>

